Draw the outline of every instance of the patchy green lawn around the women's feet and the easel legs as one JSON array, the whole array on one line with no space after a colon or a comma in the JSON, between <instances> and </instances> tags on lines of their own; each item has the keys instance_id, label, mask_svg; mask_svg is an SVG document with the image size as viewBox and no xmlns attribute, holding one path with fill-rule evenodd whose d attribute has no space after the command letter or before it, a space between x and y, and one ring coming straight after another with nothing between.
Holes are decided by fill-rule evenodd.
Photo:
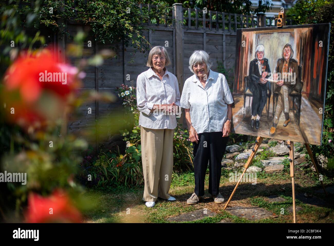
<instances>
[{"instance_id":1,"label":"patchy green lawn around the women's feet and the easel legs","mask_svg":"<svg viewBox=\"0 0 334 246\"><path fill-rule=\"evenodd\" d=\"M261 159L266 159L273 156L273 153L268 150L259 152L254 159L253 164L259 164ZM288 208L292 206L291 197L291 177L290 177L290 162L288 158L284 161L284 170L281 173L268 174L264 171L257 173L257 185L250 183L240 183L237 192L233 196L232 202L238 202L240 206L251 207L258 206L264 208L273 214L276 218L261 219L250 221L244 218L239 218L223 210L223 205L217 205L209 198L205 202L200 202L195 206L186 205L186 199L189 198L194 189L193 172L173 173L170 194L177 198L175 202L168 202L158 199L156 206L147 208L142 201L143 186L132 188L116 187L110 190L88 190L85 194L90 200L96 201L96 206L91 211L86 211L84 216L86 222L97 223L124 223L124 222L145 222L145 223L179 223L169 222L167 219L182 213L191 211L208 209L216 213L214 217L205 217L201 220L186 222L186 223L217 223L223 219L229 218L233 223L291 223L292 215L289 214ZM237 171L242 172L243 168L233 171L222 169L220 181L220 191L224 195L225 200L235 186L235 182L229 182L229 173ZM328 172L324 175L325 185L334 184L333 173ZM208 188L208 169L205 177L205 195L209 196ZM315 172L310 168L300 168L295 171L296 194L312 193L315 189L321 188L320 181ZM226 190L228 187L229 190ZM286 191L280 188L285 187ZM269 202L268 195L276 194L286 199L284 202ZM325 197L324 194L317 194L319 198L325 199L328 203L334 204L334 198ZM231 204L230 203L230 204ZM238 205L239 206L239 205ZM334 209L326 207L308 206L296 199L296 206L302 207L303 210L297 212L298 222L318 223L318 222L334 222ZM281 214L281 209L284 209L284 214ZM127 211L130 214L127 214Z\"/></svg>"}]
</instances>

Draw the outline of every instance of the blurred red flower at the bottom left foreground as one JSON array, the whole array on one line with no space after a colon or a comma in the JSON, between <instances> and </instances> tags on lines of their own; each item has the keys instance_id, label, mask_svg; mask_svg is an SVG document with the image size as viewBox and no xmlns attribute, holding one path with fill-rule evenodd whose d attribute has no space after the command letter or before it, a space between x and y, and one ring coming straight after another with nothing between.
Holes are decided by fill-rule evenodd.
<instances>
[{"instance_id":1,"label":"blurred red flower at the bottom left foreground","mask_svg":"<svg viewBox=\"0 0 334 246\"><path fill-rule=\"evenodd\" d=\"M55 190L48 197L30 193L25 218L28 223L81 222L80 212L72 206L69 197L62 190Z\"/></svg>"}]
</instances>

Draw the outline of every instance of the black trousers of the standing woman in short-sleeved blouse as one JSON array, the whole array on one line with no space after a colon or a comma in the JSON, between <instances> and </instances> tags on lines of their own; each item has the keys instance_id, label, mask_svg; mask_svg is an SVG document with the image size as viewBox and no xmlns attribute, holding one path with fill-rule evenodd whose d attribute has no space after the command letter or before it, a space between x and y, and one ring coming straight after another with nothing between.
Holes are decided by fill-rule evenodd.
<instances>
[{"instance_id":1,"label":"black trousers of the standing woman in short-sleeved blouse","mask_svg":"<svg viewBox=\"0 0 334 246\"><path fill-rule=\"evenodd\" d=\"M222 137L222 132L210 132L198 134L198 144L194 144L194 175L195 193L197 196L204 195L205 172L209 162L209 193L219 193L221 176L221 160L224 156L228 137Z\"/></svg>"}]
</instances>

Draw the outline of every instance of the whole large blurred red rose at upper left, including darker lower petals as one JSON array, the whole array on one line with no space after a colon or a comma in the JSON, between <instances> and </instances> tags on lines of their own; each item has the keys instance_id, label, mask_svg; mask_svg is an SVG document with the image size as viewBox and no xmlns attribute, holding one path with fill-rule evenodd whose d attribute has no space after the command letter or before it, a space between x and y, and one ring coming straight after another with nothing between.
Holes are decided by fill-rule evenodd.
<instances>
[{"instance_id":1,"label":"whole large blurred red rose at upper left, including darker lower petals","mask_svg":"<svg viewBox=\"0 0 334 246\"><path fill-rule=\"evenodd\" d=\"M2 91L7 118L35 130L62 117L85 73L58 62L51 49L23 53L6 71Z\"/></svg>"}]
</instances>

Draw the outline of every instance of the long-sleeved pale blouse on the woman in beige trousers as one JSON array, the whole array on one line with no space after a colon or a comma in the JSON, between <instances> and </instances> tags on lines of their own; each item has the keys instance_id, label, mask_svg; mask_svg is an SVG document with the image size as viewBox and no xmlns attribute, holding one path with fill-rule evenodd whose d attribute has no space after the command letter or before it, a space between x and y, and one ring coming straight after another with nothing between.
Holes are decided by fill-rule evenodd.
<instances>
[{"instance_id":1,"label":"long-sleeved pale blouse on the woman in beige trousers","mask_svg":"<svg viewBox=\"0 0 334 246\"><path fill-rule=\"evenodd\" d=\"M138 75L137 78L137 107L140 111L139 126L150 129L175 129L176 114L151 112L154 104L180 104L180 91L177 78L167 71L162 80L152 68ZM181 113L181 110L179 110ZM178 113L178 114L179 114ZM178 115L180 117L180 115Z\"/></svg>"}]
</instances>

